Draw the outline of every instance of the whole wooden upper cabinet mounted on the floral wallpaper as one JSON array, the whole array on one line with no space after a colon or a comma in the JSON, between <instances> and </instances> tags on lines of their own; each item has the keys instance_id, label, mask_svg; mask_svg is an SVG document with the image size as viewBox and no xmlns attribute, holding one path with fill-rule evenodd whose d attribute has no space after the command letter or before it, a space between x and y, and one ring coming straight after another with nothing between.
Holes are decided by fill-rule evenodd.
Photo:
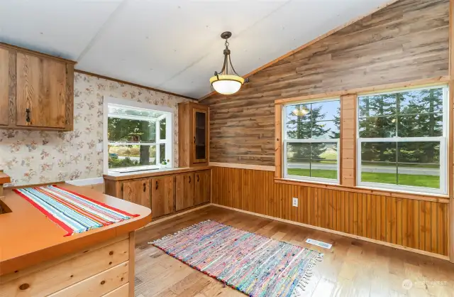
<instances>
[{"instance_id":1,"label":"whole wooden upper cabinet mounted on the floral wallpaper","mask_svg":"<svg viewBox=\"0 0 454 297\"><path fill-rule=\"evenodd\" d=\"M74 62L3 43L0 62L0 127L73 129Z\"/></svg>"}]
</instances>

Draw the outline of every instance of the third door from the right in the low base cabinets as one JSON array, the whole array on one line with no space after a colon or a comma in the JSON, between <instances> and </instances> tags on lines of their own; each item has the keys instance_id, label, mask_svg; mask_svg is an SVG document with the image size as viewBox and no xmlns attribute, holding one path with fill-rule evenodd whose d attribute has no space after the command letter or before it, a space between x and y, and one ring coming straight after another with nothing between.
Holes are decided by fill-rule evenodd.
<instances>
[{"instance_id":1,"label":"third door from the right in the low base cabinets","mask_svg":"<svg viewBox=\"0 0 454 297\"><path fill-rule=\"evenodd\" d=\"M174 177L151 179L151 211L153 218L174 212Z\"/></svg>"}]
</instances>

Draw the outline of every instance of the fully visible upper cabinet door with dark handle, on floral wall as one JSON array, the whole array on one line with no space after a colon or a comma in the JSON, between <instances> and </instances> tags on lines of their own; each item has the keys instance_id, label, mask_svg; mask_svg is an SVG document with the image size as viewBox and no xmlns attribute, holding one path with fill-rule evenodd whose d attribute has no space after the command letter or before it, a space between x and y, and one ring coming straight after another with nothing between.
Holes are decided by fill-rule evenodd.
<instances>
[{"instance_id":1,"label":"fully visible upper cabinet door with dark handle, on floral wall","mask_svg":"<svg viewBox=\"0 0 454 297\"><path fill-rule=\"evenodd\" d=\"M65 128L66 64L17 53L16 125Z\"/></svg>"}]
</instances>

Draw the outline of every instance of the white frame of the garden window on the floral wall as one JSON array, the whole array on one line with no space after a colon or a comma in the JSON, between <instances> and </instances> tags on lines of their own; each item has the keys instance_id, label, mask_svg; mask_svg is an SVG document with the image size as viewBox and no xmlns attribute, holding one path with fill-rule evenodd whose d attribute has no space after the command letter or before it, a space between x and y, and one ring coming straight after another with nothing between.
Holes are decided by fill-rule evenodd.
<instances>
[{"instance_id":1,"label":"white frame of the garden window on the floral wall","mask_svg":"<svg viewBox=\"0 0 454 297\"><path fill-rule=\"evenodd\" d=\"M160 105L153 105L144 102L135 102L128 99L118 99L114 97L104 97L103 102L103 171L104 174L108 174L111 169L109 168L109 138L107 135L107 126L109 121L109 105L117 105L121 107L130 107L131 109L145 109L153 110L157 112L162 112L163 114L160 117L157 117L155 120L155 129L156 129L156 139L154 142L115 142L116 145L128 145L128 146L156 146L156 164L155 165L146 165L148 168L155 169L160 168L160 144L165 144L165 154L166 157L170 160L172 167L174 166L174 141L173 141L173 124L174 124L174 114L175 109L171 107L163 107ZM134 117L130 115L116 115L117 119L143 119L147 120L147 117ZM160 121L166 119L166 130L165 130L165 139L160 139ZM138 166L140 167L140 166ZM122 168L134 168L134 167L122 167ZM119 168L115 168L119 169ZM139 170L139 169L138 169ZM145 169L147 170L147 169Z\"/></svg>"}]
</instances>

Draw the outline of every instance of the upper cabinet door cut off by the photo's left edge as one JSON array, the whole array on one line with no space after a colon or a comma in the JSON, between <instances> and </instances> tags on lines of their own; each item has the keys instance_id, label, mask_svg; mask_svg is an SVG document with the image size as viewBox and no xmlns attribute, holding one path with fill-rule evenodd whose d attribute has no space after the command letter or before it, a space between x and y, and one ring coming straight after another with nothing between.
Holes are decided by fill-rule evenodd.
<instances>
[{"instance_id":1,"label":"upper cabinet door cut off by the photo's left edge","mask_svg":"<svg viewBox=\"0 0 454 297\"><path fill-rule=\"evenodd\" d=\"M9 50L0 48L0 125L9 124Z\"/></svg>"}]
</instances>

